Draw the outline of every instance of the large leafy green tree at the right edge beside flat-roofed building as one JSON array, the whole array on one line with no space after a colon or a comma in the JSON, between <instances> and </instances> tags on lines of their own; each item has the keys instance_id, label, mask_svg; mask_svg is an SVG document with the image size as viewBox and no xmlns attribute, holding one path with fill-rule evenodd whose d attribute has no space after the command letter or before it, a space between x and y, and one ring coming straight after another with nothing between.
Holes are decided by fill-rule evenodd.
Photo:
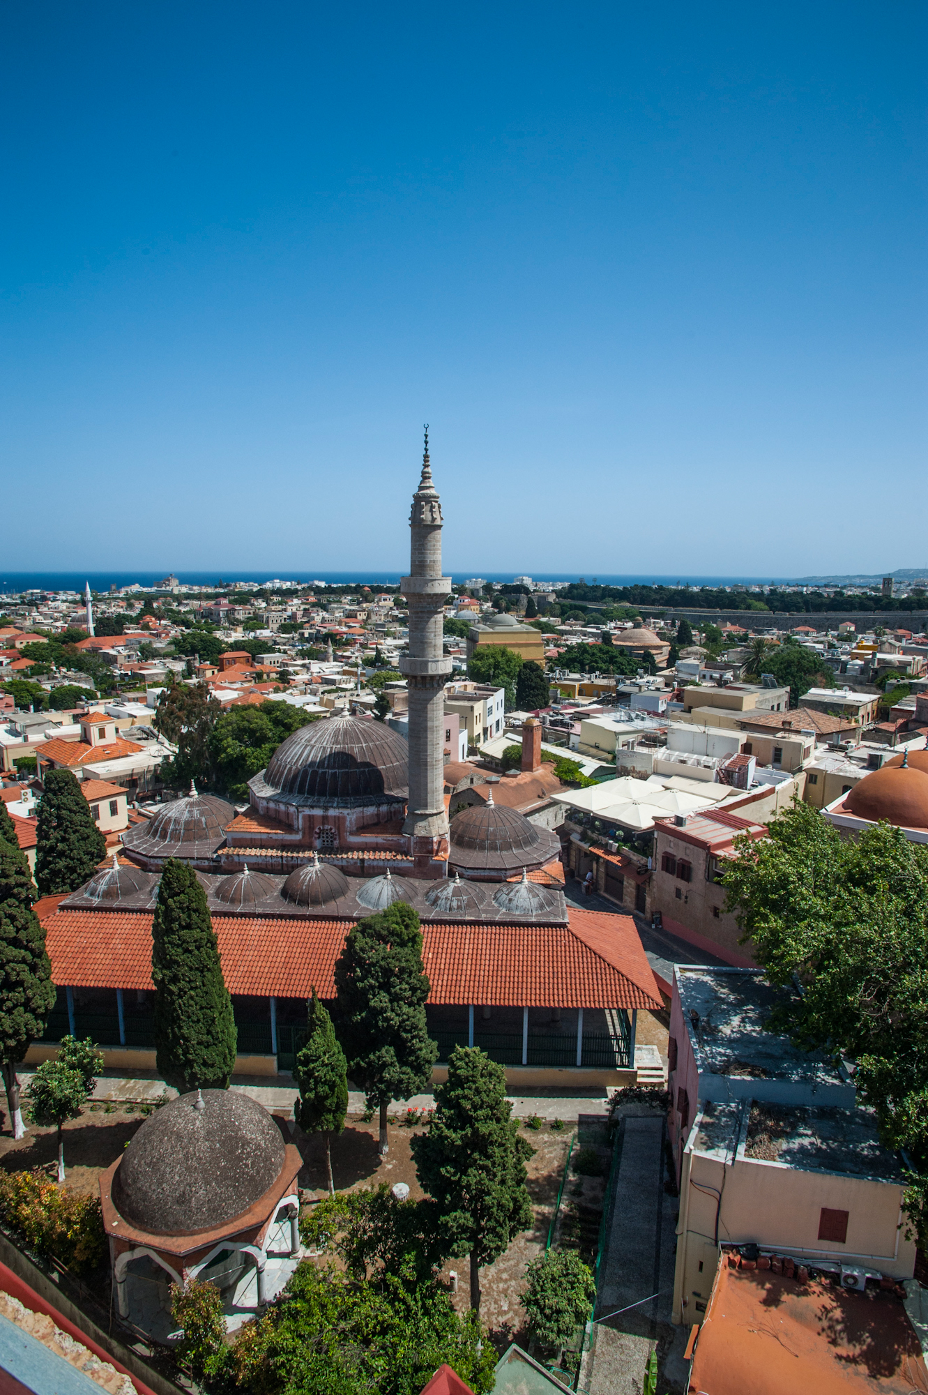
<instances>
[{"instance_id":1,"label":"large leafy green tree at the right edge beside flat-roofed building","mask_svg":"<svg viewBox=\"0 0 928 1395\"><path fill-rule=\"evenodd\" d=\"M807 804L736 840L726 905L783 997L772 1025L857 1062L883 1144L911 1163L907 1211L928 1240L928 847L878 823L842 838ZM798 983L801 992L793 985Z\"/></svg>"}]
</instances>

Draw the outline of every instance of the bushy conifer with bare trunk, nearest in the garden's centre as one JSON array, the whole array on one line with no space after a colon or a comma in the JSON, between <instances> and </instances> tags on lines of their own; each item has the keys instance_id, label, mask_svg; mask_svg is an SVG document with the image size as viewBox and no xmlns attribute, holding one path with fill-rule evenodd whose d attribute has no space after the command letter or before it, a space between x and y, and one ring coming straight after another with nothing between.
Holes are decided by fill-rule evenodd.
<instances>
[{"instance_id":1,"label":"bushy conifer with bare trunk, nearest in the garden's centre","mask_svg":"<svg viewBox=\"0 0 928 1395\"><path fill-rule=\"evenodd\" d=\"M411 1140L422 1190L438 1201L451 1254L471 1257L471 1307L481 1306L481 1265L532 1223L525 1159L532 1148L511 1119L506 1073L474 1046L457 1046L435 1091L428 1131Z\"/></svg>"}]
</instances>

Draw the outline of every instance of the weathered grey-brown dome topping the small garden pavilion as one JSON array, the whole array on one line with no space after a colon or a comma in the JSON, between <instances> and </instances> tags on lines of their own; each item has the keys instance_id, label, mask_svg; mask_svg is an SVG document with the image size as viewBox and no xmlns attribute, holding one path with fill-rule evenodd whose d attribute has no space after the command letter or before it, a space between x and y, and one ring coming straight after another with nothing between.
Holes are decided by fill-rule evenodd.
<instances>
[{"instance_id":1,"label":"weathered grey-brown dome topping the small garden pavilion","mask_svg":"<svg viewBox=\"0 0 928 1395\"><path fill-rule=\"evenodd\" d=\"M273 1187L284 1141L241 1091L181 1095L145 1120L113 1177L120 1215L153 1235L227 1225Z\"/></svg>"}]
</instances>

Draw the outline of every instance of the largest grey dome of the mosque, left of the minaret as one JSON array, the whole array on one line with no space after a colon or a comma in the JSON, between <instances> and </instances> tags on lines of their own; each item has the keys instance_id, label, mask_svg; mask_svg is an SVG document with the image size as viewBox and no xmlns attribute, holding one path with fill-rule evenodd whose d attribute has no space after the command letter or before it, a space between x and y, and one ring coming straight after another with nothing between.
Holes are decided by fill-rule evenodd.
<instances>
[{"instance_id":1,"label":"largest grey dome of the mosque, left of the minaret","mask_svg":"<svg viewBox=\"0 0 928 1395\"><path fill-rule=\"evenodd\" d=\"M294 731L251 785L327 804L383 794L404 797L408 760L405 737L386 723L343 713Z\"/></svg>"}]
</instances>

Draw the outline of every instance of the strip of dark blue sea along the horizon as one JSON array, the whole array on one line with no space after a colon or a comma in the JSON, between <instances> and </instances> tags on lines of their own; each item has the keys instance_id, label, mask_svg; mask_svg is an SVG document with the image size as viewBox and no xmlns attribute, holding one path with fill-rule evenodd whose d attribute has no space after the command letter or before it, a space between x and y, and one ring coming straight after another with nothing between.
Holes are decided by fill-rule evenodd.
<instances>
[{"instance_id":1,"label":"strip of dark blue sea along the horizon","mask_svg":"<svg viewBox=\"0 0 928 1395\"><path fill-rule=\"evenodd\" d=\"M314 586L319 582L332 585L358 586L397 586L403 572L369 572L364 569L348 572L176 572L177 580L183 586L230 586L233 583L248 583L263 586L269 582L294 582L302 586ZM474 572L453 572L451 580L457 585L472 578ZM481 573L482 575L482 573ZM500 585L513 582L514 575L525 576L527 572L486 572L484 580ZM609 575L609 576L581 576L580 572L532 572L535 582L595 582L602 586L772 586L789 582L783 576L680 576L680 575ZM22 591L84 591L91 583L92 591L120 590L123 586L141 586L144 590L155 590L167 572L4 572L0 573L0 594L18 594Z\"/></svg>"}]
</instances>

